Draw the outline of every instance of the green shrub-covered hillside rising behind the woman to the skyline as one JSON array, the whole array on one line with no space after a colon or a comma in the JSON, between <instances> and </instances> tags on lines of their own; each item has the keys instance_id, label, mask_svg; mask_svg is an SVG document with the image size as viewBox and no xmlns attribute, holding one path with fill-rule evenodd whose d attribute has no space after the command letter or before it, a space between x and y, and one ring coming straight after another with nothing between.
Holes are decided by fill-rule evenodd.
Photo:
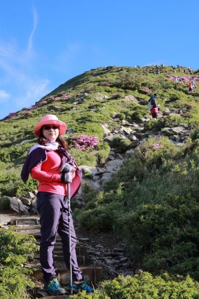
<instances>
[{"instance_id":1,"label":"green shrub-covered hillside rising behind the woman to the skyline","mask_svg":"<svg viewBox=\"0 0 199 299\"><path fill-rule=\"evenodd\" d=\"M165 68L160 68L160 75L154 75L155 66L145 70L116 66L94 69L60 85L32 107L10 113L0 121L0 195L19 196L37 187L31 178L23 184L20 171L36 143L33 129L45 114L57 115L68 129L74 129L65 135L70 144L71 137L81 133L99 137L94 155L71 149L79 164L94 166L109 152L101 123L108 124L110 130L119 128L122 120L139 123L149 114L148 99L156 92L161 111L169 107L184 113L182 117L151 120L145 123L144 132L184 124L192 139L181 149L168 137L145 140L104 191L87 189L87 204L75 214L84 229L95 227L126 236L129 254L145 270L189 274L198 280L199 92L189 92L188 83L194 80L199 86L199 70L184 74L185 67L181 73L177 68L176 73L174 68ZM174 76L181 76L182 82L174 81ZM133 95L139 105L127 101L127 95Z\"/></svg>"}]
</instances>

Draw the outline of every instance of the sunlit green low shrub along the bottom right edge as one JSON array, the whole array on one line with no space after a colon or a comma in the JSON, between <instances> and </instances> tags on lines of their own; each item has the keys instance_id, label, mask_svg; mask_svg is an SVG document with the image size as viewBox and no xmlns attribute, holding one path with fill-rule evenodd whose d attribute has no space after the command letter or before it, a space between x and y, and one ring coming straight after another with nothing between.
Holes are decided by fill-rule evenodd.
<instances>
[{"instance_id":1,"label":"sunlit green low shrub along the bottom right edge","mask_svg":"<svg viewBox=\"0 0 199 299\"><path fill-rule=\"evenodd\" d=\"M199 283L189 276L152 277L150 273L140 271L134 277L118 276L112 281L100 283L94 294L78 293L79 299L199 299Z\"/></svg>"}]
</instances>

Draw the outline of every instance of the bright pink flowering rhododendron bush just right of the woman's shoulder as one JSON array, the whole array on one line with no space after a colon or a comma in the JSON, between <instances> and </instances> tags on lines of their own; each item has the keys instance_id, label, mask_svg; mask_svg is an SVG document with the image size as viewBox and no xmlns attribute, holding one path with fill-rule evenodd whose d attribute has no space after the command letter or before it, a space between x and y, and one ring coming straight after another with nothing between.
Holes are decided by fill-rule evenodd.
<instances>
[{"instance_id":1,"label":"bright pink flowering rhododendron bush just right of the woman's shoulder","mask_svg":"<svg viewBox=\"0 0 199 299\"><path fill-rule=\"evenodd\" d=\"M72 137L73 147L81 150L94 149L95 146L99 143L99 139L96 136L88 136L81 134L80 136Z\"/></svg>"}]
</instances>

